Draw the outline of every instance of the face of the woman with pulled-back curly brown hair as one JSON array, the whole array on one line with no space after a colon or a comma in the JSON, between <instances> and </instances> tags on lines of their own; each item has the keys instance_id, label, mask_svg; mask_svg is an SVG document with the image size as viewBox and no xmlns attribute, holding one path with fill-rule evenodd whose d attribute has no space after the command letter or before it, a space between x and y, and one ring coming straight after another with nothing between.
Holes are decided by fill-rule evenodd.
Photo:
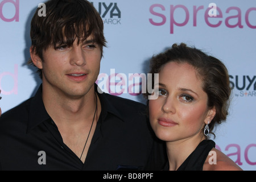
<instances>
[{"instance_id":1,"label":"face of the woman with pulled-back curly brown hair","mask_svg":"<svg viewBox=\"0 0 256 182\"><path fill-rule=\"evenodd\" d=\"M159 84L155 84L159 97L149 100L150 124L158 138L166 142L202 138L203 127L215 114L214 108L208 109L202 85L195 68L187 63L170 62L160 69Z\"/></svg>"}]
</instances>

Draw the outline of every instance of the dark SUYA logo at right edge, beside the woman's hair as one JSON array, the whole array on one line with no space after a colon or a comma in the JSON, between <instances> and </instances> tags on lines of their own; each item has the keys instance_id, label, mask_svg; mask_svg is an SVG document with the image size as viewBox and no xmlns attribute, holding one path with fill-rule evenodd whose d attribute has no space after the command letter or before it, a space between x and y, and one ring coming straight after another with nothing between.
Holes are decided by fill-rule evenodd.
<instances>
[{"instance_id":1,"label":"dark SUYA logo at right edge, beside the woman's hair","mask_svg":"<svg viewBox=\"0 0 256 182\"><path fill-rule=\"evenodd\" d=\"M256 76L229 75L236 97L256 97Z\"/></svg>"}]
</instances>

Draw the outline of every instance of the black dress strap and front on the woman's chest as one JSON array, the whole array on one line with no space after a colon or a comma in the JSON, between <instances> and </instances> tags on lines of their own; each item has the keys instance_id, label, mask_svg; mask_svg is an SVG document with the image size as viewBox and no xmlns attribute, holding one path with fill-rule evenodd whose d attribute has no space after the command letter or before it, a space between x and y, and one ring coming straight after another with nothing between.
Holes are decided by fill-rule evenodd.
<instances>
[{"instance_id":1,"label":"black dress strap and front on the woman's chest","mask_svg":"<svg viewBox=\"0 0 256 182\"><path fill-rule=\"evenodd\" d=\"M180 165L177 171L202 171L205 160L213 147L215 147L215 142L213 142L213 140L203 140ZM164 167L164 170L169 170L168 162Z\"/></svg>"}]
</instances>

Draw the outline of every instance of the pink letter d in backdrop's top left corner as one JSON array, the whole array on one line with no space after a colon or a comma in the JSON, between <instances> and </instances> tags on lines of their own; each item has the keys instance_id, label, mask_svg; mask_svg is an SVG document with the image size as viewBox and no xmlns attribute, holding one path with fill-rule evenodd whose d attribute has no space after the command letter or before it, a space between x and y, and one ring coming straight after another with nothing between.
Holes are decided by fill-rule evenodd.
<instances>
[{"instance_id":1,"label":"pink letter d in backdrop's top left corner","mask_svg":"<svg viewBox=\"0 0 256 182\"><path fill-rule=\"evenodd\" d=\"M6 3L12 3L15 6L15 14L13 18L6 18L3 15L3 5L5 5ZM5 22L13 22L14 20L15 22L19 22L19 0L3 0L0 3L0 18Z\"/></svg>"}]
</instances>

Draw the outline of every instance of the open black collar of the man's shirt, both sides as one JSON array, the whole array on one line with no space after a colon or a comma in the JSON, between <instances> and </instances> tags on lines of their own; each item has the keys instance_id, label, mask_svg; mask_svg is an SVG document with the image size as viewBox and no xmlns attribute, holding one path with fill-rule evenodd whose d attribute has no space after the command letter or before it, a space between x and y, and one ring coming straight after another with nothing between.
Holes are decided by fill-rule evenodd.
<instances>
[{"instance_id":1,"label":"open black collar of the man's shirt, both sides","mask_svg":"<svg viewBox=\"0 0 256 182\"><path fill-rule=\"evenodd\" d=\"M107 94L102 92L97 84L94 84L94 89L98 97L100 98L102 117L105 118L108 113L111 113L121 119L121 121L124 121L122 114L119 113L118 109L107 98ZM51 119L51 117L47 113L46 107L44 107L41 84L31 101L30 113L28 115L27 133L29 133L30 130L34 129L34 127L38 126L40 123L48 119Z\"/></svg>"}]
</instances>

